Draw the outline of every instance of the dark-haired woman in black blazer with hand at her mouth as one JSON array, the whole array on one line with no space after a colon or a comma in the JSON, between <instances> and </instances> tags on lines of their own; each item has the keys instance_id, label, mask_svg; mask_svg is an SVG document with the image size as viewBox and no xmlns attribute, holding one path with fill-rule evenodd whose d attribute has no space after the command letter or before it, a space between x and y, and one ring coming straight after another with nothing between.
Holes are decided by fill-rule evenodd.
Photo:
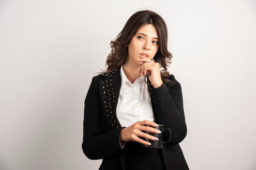
<instances>
[{"instance_id":1,"label":"dark-haired woman in black blazer with hand at her mouth","mask_svg":"<svg viewBox=\"0 0 256 170\"><path fill-rule=\"evenodd\" d=\"M100 170L188 170L179 143L186 137L180 83L167 70L167 28L160 15L138 11L111 41L107 70L94 76L85 98L83 152L103 159ZM150 146L164 124L171 142ZM152 127L146 127L150 125ZM164 134L168 137L170 134Z\"/></svg>"}]
</instances>

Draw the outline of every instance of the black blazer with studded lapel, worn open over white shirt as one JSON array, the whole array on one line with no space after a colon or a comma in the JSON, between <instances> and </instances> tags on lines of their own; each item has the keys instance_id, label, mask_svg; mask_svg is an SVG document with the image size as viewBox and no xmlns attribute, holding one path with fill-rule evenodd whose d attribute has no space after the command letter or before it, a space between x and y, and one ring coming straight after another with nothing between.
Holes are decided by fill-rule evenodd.
<instances>
[{"instance_id":1,"label":"black blazer with studded lapel, worn open over white shirt","mask_svg":"<svg viewBox=\"0 0 256 170\"><path fill-rule=\"evenodd\" d=\"M122 129L116 108L121 87L120 68L92 78L85 98L83 152L89 159L103 159L100 169L125 170L125 148L119 145ZM171 74L171 85L149 88L155 122L171 129L171 142L164 144L162 155L166 170L189 170L179 143L187 129L180 83ZM151 86L152 87L152 86Z\"/></svg>"}]
</instances>

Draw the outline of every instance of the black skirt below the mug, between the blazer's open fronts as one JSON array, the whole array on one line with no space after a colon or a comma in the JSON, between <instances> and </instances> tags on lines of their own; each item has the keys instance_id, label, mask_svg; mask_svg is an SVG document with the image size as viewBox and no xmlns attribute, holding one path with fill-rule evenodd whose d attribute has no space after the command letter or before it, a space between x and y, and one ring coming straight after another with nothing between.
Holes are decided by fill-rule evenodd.
<instances>
[{"instance_id":1,"label":"black skirt below the mug, between the blazer's open fronts","mask_svg":"<svg viewBox=\"0 0 256 170\"><path fill-rule=\"evenodd\" d=\"M126 150L126 170L164 170L161 148L143 147L131 142Z\"/></svg>"}]
</instances>

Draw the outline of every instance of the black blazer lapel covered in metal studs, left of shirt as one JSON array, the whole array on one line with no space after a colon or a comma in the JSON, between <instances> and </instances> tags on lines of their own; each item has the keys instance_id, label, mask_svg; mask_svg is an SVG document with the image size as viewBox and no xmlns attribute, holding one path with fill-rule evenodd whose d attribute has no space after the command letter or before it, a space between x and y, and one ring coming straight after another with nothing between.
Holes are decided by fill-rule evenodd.
<instances>
[{"instance_id":1,"label":"black blazer lapel covered in metal studs, left of shirt","mask_svg":"<svg viewBox=\"0 0 256 170\"><path fill-rule=\"evenodd\" d=\"M103 78L99 81L103 116L108 121L112 130L121 128L116 113L117 101L121 87L120 67L113 72L99 74L99 76Z\"/></svg>"}]
</instances>

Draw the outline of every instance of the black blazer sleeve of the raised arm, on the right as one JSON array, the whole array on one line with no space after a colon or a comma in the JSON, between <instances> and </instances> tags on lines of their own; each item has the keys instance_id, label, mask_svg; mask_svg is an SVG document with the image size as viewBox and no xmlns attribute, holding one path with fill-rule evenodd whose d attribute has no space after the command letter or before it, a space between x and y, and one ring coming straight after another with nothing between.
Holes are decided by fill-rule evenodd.
<instances>
[{"instance_id":1,"label":"black blazer sleeve of the raised arm, on the right","mask_svg":"<svg viewBox=\"0 0 256 170\"><path fill-rule=\"evenodd\" d=\"M180 83L171 75L170 89L165 83L150 90L157 114L157 123L164 124L172 132L171 144L178 144L186 137L187 129L183 109L182 89Z\"/></svg>"}]
</instances>

